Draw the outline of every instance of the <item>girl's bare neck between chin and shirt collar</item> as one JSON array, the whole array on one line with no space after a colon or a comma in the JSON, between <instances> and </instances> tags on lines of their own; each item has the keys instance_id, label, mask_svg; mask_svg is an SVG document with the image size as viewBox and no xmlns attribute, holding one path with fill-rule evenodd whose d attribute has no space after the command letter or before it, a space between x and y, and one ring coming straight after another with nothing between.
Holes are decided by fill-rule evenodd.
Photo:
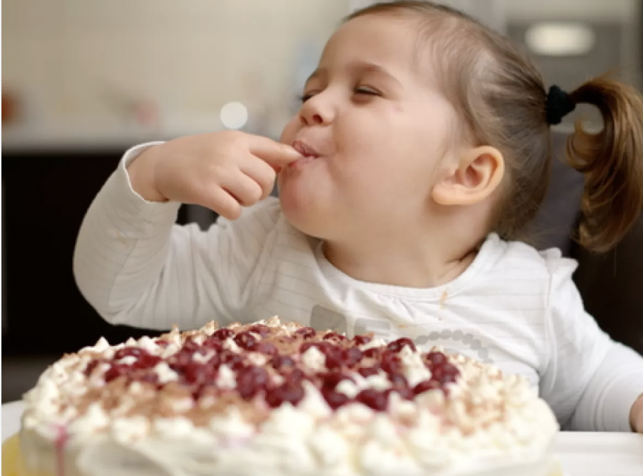
<instances>
[{"instance_id":1,"label":"girl's bare neck between chin and shirt collar","mask_svg":"<svg viewBox=\"0 0 643 476\"><path fill-rule=\"evenodd\" d=\"M351 278L401 287L436 287L457 278L477 254L479 239L472 233L414 233L397 228L387 234L368 234L367 242L324 242L324 254ZM458 228L456 228L458 230ZM467 230L460 227L459 230ZM366 233L361 233L364 237Z\"/></svg>"}]
</instances>

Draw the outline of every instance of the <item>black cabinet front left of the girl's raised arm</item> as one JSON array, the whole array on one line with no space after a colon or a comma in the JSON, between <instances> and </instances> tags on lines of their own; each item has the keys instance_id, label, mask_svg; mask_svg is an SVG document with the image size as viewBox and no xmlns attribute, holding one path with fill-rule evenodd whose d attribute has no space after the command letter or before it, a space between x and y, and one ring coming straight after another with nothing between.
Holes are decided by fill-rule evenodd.
<instances>
[{"instance_id":1,"label":"black cabinet front left of the girl's raised arm","mask_svg":"<svg viewBox=\"0 0 643 476\"><path fill-rule=\"evenodd\" d=\"M109 150L3 150L3 357L61 355L151 331L110 326L72 274L85 211L126 146ZM186 209L179 222L187 220Z\"/></svg>"}]
</instances>

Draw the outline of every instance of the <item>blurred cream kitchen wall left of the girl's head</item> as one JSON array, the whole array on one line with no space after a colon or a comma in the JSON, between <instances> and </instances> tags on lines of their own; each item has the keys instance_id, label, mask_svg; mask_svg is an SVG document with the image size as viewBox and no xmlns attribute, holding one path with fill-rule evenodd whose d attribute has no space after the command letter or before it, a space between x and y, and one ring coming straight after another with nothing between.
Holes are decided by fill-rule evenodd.
<instances>
[{"instance_id":1,"label":"blurred cream kitchen wall left of the girl's head","mask_svg":"<svg viewBox=\"0 0 643 476\"><path fill-rule=\"evenodd\" d=\"M323 44L347 12L346 0L5 0L3 88L45 119L107 124L119 94L175 114L277 101L302 42Z\"/></svg>"}]
</instances>

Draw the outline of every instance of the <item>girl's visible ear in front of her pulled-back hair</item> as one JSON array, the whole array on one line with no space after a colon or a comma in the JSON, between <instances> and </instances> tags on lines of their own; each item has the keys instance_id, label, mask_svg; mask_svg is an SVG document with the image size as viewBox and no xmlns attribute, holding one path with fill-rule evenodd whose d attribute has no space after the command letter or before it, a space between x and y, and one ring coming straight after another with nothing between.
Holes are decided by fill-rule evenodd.
<instances>
[{"instance_id":1,"label":"girl's visible ear in front of her pulled-back hair","mask_svg":"<svg viewBox=\"0 0 643 476\"><path fill-rule=\"evenodd\" d=\"M460 157L457 168L438 182L432 198L444 206L480 203L490 196L505 175L505 158L497 148L483 145Z\"/></svg>"}]
</instances>

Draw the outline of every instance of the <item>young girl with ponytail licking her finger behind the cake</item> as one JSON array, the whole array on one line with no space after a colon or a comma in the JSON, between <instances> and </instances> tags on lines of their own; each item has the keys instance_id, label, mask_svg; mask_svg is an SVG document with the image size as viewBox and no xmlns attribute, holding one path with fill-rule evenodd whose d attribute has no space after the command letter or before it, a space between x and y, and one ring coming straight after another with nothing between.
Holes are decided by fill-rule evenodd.
<instances>
[{"instance_id":1,"label":"young girl with ponytail licking her finger behind the cake","mask_svg":"<svg viewBox=\"0 0 643 476\"><path fill-rule=\"evenodd\" d=\"M406 335L526 376L563 427L643 432L643 358L584 311L572 261L511 241L543 200L550 125L579 103L603 115L568 146L586 177L579 238L605 251L643 209L635 90L546 90L458 11L370 6L326 44L282 143L226 131L129 150L83 222L78 286L114 324L278 315ZM223 218L177 226L179 203Z\"/></svg>"}]
</instances>

